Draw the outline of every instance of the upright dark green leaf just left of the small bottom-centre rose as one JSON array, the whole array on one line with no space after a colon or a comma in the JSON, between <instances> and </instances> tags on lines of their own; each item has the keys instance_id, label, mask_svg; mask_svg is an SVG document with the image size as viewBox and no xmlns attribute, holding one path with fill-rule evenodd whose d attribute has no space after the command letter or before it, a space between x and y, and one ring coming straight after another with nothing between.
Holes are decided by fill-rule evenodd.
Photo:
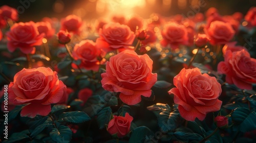
<instances>
[{"instance_id":1,"label":"upright dark green leaf just left of the small bottom-centre rose","mask_svg":"<svg viewBox=\"0 0 256 143\"><path fill-rule=\"evenodd\" d=\"M109 124L111 115L112 115L112 110L110 107L103 108L97 114L97 122L98 122L99 129L103 129L105 127L105 124Z\"/></svg>"}]
</instances>

